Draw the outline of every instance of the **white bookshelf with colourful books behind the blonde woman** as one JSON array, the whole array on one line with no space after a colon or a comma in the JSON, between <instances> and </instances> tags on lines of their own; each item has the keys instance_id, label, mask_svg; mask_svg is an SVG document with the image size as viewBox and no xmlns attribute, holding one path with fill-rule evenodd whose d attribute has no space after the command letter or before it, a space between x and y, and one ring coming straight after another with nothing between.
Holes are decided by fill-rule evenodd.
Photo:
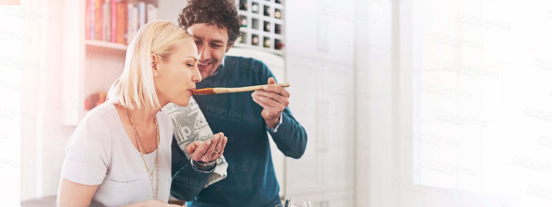
<instances>
[{"instance_id":1,"label":"white bookshelf with colourful books behind the blonde woman","mask_svg":"<svg viewBox=\"0 0 552 207\"><path fill-rule=\"evenodd\" d=\"M123 73L127 44L142 25L157 19L159 1L164 0L66 1L70 9L64 15L75 18L63 23L63 34L71 34L62 43L64 126L77 126ZM113 23L115 33L111 33ZM112 39L112 34L118 39Z\"/></svg>"}]
</instances>

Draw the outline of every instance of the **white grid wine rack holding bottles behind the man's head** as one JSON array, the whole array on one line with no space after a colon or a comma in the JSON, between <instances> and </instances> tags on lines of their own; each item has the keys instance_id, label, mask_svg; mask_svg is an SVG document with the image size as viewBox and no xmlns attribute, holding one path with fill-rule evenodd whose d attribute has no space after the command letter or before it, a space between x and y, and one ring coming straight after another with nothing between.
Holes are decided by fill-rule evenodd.
<instances>
[{"instance_id":1,"label":"white grid wine rack holding bottles behind the man's head","mask_svg":"<svg viewBox=\"0 0 552 207\"><path fill-rule=\"evenodd\" d=\"M235 0L242 27L235 47L256 48L283 56L284 4L282 0Z\"/></svg>"}]
</instances>

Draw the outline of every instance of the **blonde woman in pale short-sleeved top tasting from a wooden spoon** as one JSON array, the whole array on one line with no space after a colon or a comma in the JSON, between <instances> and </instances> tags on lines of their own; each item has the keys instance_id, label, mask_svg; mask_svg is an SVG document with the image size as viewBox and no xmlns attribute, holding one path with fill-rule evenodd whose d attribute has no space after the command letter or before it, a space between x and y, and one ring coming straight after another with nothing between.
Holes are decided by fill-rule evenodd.
<instances>
[{"instance_id":1,"label":"blonde woman in pale short-sleeved top tasting from a wooden spoon","mask_svg":"<svg viewBox=\"0 0 552 207\"><path fill-rule=\"evenodd\" d=\"M188 106L201 81L197 64L192 36L170 21L152 21L137 32L108 100L67 141L58 206L178 206L167 204L173 125L160 110L169 102ZM226 140L214 134L193 143L190 155L216 159Z\"/></svg>"}]
</instances>

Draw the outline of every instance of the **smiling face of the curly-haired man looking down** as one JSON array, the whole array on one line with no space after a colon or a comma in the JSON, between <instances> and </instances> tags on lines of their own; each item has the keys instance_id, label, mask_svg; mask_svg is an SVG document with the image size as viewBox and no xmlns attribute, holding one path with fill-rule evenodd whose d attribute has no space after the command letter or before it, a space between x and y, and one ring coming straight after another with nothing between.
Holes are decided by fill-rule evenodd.
<instances>
[{"instance_id":1,"label":"smiling face of the curly-haired man looking down","mask_svg":"<svg viewBox=\"0 0 552 207\"><path fill-rule=\"evenodd\" d=\"M228 46L228 30L215 25L193 24L188 27L188 33L194 37L198 47L198 69L201 78L207 78L215 73L220 66L224 54L231 46Z\"/></svg>"}]
</instances>

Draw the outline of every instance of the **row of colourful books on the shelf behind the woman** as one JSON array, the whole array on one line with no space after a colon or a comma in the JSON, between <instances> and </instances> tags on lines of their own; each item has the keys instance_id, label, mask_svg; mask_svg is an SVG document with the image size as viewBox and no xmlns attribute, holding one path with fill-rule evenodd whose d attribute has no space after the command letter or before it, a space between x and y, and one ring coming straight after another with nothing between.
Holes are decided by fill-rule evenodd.
<instances>
[{"instance_id":1,"label":"row of colourful books on the shelf behind the woman","mask_svg":"<svg viewBox=\"0 0 552 207\"><path fill-rule=\"evenodd\" d=\"M85 38L128 45L144 24L157 19L154 4L128 0L86 0Z\"/></svg>"}]
</instances>

